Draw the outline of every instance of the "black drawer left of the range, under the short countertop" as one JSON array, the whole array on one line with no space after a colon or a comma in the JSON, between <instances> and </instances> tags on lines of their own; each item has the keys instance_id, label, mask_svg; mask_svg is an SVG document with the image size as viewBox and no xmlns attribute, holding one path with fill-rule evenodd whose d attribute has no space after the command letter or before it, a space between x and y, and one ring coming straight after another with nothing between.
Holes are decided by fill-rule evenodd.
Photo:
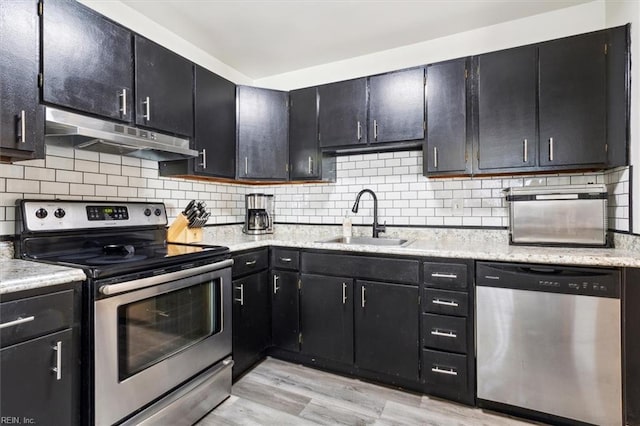
<instances>
[{"instance_id":1,"label":"black drawer left of the range, under the short countertop","mask_svg":"<svg viewBox=\"0 0 640 426\"><path fill-rule=\"evenodd\" d=\"M0 342L13 345L71 326L73 290L0 304Z\"/></svg>"}]
</instances>

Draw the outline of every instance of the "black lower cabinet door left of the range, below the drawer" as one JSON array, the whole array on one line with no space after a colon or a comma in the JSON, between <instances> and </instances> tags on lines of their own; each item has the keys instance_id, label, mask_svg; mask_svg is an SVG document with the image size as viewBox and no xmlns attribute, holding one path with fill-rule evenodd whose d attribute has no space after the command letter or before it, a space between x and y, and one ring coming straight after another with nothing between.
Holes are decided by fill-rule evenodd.
<instances>
[{"instance_id":1,"label":"black lower cabinet door left of the range, below the drawer","mask_svg":"<svg viewBox=\"0 0 640 426\"><path fill-rule=\"evenodd\" d=\"M78 363L72 334L66 329L0 350L2 418L28 418L33 424L77 424L79 407L74 402L73 381ZM59 379L52 371L58 367Z\"/></svg>"}]
</instances>

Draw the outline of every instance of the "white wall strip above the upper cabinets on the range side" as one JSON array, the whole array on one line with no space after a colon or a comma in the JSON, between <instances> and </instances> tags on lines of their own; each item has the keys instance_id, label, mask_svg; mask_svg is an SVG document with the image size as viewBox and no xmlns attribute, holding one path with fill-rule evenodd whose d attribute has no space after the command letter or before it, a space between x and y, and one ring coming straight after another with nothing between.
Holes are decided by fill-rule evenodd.
<instances>
[{"instance_id":1,"label":"white wall strip above the upper cabinets on the range side","mask_svg":"<svg viewBox=\"0 0 640 426\"><path fill-rule=\"evenodd\" d=\"M125 27L142 34L150 40L184 56L190 61L201 65L222 77L237 84L252 84L252 80L234 68L221 62L217 58L194 46L176 34L161 27L151 19L130 8L119 0L78 0L104 16L119 22ZM153 3L149 2L149 7ZM212 43L215 41L212 41Z\"/></svg>"}]
</instances>

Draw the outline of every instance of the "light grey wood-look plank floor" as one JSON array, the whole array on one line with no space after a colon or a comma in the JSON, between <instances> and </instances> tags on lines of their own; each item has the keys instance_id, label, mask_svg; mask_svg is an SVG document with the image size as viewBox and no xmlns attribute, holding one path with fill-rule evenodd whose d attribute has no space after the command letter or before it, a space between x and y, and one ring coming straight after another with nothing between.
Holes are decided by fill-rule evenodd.
<instances>
[{"instance_id":1,"label":"light grey wood-look plank floor","mask_svg":"<svg viewBox=\"0 0 640 426\"><path fill-rule=\"evenodd\" d=\"M198 426L531 425L496 413L267 358Z\"/></svg>"}]
</instances>

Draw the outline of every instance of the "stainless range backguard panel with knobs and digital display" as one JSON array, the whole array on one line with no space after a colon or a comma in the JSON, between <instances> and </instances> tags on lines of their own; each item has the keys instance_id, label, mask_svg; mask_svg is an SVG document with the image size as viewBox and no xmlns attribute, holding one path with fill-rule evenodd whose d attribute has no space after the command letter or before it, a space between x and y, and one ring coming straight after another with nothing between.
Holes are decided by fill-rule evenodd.
<instances>
[{"instance_id":1,"label":"stainless range backguard panel with knobs and digital display","mask_svg":"<svg viewBox=\"0 0 640 426\"><path fill-rule=\"evenodd\" d=\"M21 200L18 213L28 231L167 225L163 203Z\"/></svg>"}]
</instances>

